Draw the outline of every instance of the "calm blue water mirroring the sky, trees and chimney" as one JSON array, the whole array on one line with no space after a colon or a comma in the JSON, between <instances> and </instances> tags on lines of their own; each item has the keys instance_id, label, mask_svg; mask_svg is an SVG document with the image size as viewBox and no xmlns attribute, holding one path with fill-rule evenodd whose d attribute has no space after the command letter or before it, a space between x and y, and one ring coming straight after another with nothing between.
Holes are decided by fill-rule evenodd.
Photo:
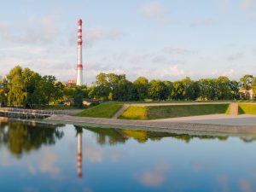
<instances>
[{"instance_id":1,"label":"calm blue water mirroring the sky, trees and chimney","mask_svg":"<svg viewBox=\"0 0 256 192\"><path fill-rule=\"evenodd\" d=\"M2 121L0 191L255 191L254 139Z\"/></svg>"}]
</instances>

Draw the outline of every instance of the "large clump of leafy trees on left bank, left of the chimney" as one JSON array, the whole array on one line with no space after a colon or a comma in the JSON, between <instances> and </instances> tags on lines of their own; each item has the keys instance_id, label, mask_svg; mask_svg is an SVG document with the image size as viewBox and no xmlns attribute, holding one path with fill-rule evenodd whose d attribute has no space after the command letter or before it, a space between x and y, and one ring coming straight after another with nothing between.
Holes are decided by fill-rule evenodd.
<instances>
[{"instance_id":1,"label":"large clump of leafy trees on left bank, left of the chimney","mask_svg":"<svg viewBox=\"0 0 256 192\"><path fill-rule=\"evenodd\" d=\"M33 108L49 105L62 97L64 85L54 76L41 76L29 68L17 66L0 82L2 103Z\"/></svg>"}]
</instances>

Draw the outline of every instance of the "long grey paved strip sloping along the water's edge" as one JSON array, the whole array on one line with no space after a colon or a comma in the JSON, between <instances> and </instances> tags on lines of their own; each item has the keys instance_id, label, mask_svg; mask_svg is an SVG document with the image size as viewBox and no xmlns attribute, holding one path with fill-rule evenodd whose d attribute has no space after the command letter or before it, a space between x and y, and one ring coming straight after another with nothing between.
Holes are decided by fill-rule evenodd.
<instances>
[{"instance_id":1,"label":"long grey paved strip sloping along the water's edge","mask_svg":"<svg viewBox=\"0 0 256 192\"><path fill-rule=\"evenodd\" d=\"M210 125L188 122L153 121L153 120L125 120L125 119L102 119L88 117L74 117L69 115L54 115L45 121L59 123L70 123L74 125L108 125L129 127L129 128L158 128L161 130L173 131L204 131L221 133L255 133L256 125Z\"/></svg>"}]
</instances>

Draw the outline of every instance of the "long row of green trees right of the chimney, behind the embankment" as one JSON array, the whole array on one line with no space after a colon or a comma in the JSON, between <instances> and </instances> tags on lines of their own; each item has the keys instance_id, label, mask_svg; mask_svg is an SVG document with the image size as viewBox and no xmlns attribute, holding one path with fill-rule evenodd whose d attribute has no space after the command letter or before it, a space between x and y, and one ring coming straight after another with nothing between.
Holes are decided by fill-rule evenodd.
<instances>
[{"instance_id":1,"label":"long row of green trees right of the chimney, behind the embankment","mask_svg":"<svg viewBox=\"0 0 256 192\"><path fill-rule=\"evenodd\" d=\"M245 90L245 94L240 89ZM125 74L99 73L88 90L88 96L114 101L153 100L231 100L249 99L248 90L256 91L256 78L245 75L240 81L220 76L217 79L191 80L189 77L171 81L151 80L144 77L131 82Z\"/></svg>"}]
</instances>

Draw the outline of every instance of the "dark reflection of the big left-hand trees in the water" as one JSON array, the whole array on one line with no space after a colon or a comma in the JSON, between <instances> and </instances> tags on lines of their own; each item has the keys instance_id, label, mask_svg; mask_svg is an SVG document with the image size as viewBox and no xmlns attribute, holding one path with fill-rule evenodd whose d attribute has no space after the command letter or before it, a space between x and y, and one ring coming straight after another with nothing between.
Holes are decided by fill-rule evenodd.
<instances>
[{"instance_id":1,"label":"dark reflection of the big left-hand trees in the water","mask_svg":"<svg viewBox=\"0 0 256 192\"><path fill-rule=\"evenodd\" d=\"M0 121L0 147L6 146L18 158L42 145L53 145L63 136L63 131L48 125L40 128L21 122Z\"/></svg>"}]
</instances>

